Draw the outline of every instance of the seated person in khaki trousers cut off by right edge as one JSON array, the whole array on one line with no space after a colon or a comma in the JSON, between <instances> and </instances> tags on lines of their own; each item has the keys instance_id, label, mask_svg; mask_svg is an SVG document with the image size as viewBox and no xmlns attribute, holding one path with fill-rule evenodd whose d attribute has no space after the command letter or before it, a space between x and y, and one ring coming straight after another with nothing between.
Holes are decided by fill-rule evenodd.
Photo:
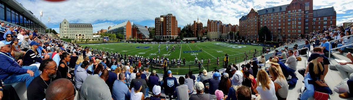
<instances>
[{"instance_id":1,"label":"seated person in khaki trousers cut off by right edge","mask_svg":"<svg viewBox=\"0 0 353 100\"><path fill-rule=\"evenodd\" d=\"M351 60L350 62L339 62L337 63L336 69L338 71L340 71L340 73L342 74L343 79L349 78L349 79L353 79L353 56L351 54L351 52L348 52L348 54L346 55L347 58L349 58L349 60Z\"/></svg>"}]
</instances>

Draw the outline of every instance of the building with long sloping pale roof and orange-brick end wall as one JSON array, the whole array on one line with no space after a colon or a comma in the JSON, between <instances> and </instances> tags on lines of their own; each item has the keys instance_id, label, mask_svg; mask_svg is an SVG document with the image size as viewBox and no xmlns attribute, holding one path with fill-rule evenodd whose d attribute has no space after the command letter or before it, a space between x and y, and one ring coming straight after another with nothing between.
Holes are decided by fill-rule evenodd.
<instances>
[{"instance_id":1,"label":"building with long sloping pale roof and orange-brick end wall","mask_svg":"<svg viewBox=\"0 0 353 100\"><path fill-rule=\"evenodd\" d=\"M124 39L128 40L130 39L131 36L131 23L130 20L127 20L123 23L120 23L118 25L114 26L109 26L107 33L113 33L113 34L122 34L124 35Z\"/></svg>"}]
</instances>

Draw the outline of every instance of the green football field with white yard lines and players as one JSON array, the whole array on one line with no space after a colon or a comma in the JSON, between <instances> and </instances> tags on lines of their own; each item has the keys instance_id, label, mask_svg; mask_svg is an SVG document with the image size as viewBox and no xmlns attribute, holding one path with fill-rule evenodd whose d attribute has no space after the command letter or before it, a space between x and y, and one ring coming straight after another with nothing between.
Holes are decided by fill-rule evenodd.
<instances>
[{"instance_id":1,"label":"green football field with white yard lines and players","mask_svg":"<svg viewBox=\"0 0 353 100\"><path fill-rule=\"evenodd\" d=\"M158 52L158 46L160 45L160 52ZM262 50L262 46L255 45L243 45L243 44L231 44L224 42L199 42L199 43L186 43L186 44L143 44L143 43L109 43L109 44L83 44L93 49L105 50L108 52L120 52L120 54L126 55L137 55L145 58L157 57L168 57L169 59L183 59L185 57L187 64L194 64L195 57L204 62L211 60L216 61L217 57L220 60L224 58L225 54L228 54L229 58L244 55L244 52L249 54L249 51L255 52L256 50ZM170 51L175 46L175 50ZM168 48L168 51L167 51ZM202 50L201 50L202 48Z\"/></svg>"}]
</instances>

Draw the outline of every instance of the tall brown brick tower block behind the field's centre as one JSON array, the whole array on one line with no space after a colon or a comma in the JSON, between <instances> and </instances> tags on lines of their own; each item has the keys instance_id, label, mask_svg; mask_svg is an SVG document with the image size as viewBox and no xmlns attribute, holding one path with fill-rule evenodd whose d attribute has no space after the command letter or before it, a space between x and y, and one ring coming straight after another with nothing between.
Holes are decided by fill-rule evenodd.
<instances>
[{"instance_id":1,"label":"tall brown brick tower block behind the field's centre","mask_svg":"<svg viewBox=\"0 0 353 100\"><path fill-rule=\"evenodd\" d=\"M174 39L178 37L178 20L169 13L155 18L156 39Z\"/></svg>"}]
</instances>

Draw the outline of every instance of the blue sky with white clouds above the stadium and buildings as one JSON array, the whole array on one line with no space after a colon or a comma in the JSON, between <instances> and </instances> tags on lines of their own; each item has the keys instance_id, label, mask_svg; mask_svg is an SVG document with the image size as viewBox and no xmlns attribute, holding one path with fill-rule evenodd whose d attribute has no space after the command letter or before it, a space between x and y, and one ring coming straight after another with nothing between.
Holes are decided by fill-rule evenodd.
<instances>
[{"instance_id":1,"label":"blue sky with white clouds above the stadium and buildings","mask_svg":"<svg viewBox=\"0 0 353 100\"><path fill-rule=\"evenodd\" d=\"M69 23L90 23L93 32L108 29L124 21L154 27L154 19L172 13L177 17L178 26L199 20L206 26L208 19L221 20L224 24L239 24L239 18L251 8L263 8L289 4L292 0L66 0L48 2L44 0L17 0L27 10L50 28L59 32L59 24L67 19ZM313 0L313 9L334 6L337 24L353 19L353 0Z\"/></svg>"}]
</instances>

